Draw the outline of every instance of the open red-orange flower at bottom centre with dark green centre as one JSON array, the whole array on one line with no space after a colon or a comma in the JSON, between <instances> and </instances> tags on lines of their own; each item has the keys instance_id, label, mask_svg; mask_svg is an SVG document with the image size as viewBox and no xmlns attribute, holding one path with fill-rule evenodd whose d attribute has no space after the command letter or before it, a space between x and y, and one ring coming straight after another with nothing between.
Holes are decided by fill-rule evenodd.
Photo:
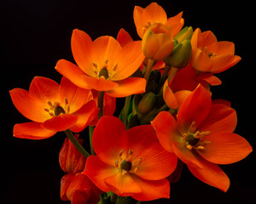
<instances>
[{"instance_id":1,"label":"open red-orange flower at bottom centre with dark green centre","mask_svg":"<svg viewBox=\"0 0 256 204\"><path fill-rule=\"evenodd\" d=\"M170 196L166 177L177 156L161 147L150 125L126 130L118 118L102 116L92 143L96 156L88 157L84 173L99 189L138 201Z\"/></svg>"}]
</instances>

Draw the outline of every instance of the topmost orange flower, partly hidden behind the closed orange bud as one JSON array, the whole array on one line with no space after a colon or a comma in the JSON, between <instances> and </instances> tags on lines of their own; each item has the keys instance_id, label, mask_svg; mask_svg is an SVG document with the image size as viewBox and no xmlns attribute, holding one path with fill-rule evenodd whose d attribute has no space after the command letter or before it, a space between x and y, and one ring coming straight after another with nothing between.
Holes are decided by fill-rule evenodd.
<instances>
[{"instance_id":1,"label":"topmost orange flower, partly hidden behind the closed orange bud","mask_svg":"<svg viewBox=\"0 0 256 204\"><path fill-rule=\"evenodd\" d=\"M167 19L166 11L157 3L150 3L146 8L136 6L133 10L133 19L137 28L137 34L143 38L148 27L158 22L165 26L170 26L172 36L175 37L183 27L183 12Z\"/></svg>"}]
</instances>

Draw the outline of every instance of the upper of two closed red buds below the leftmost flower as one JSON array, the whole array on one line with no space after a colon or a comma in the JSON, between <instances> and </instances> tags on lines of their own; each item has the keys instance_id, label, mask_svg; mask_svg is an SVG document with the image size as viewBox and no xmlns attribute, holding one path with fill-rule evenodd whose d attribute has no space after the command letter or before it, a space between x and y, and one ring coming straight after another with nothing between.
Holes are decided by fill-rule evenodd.
<instances>
[{"instance_id":1,"label":"upper of two closed red buds below the leftmost flower","mask_svg":"<svg viewBox=\"0 0 256 204\"><path fill-rule=\"evenodd\" d=\"M83 139L79 139L83 143ZM75 148L69 139L65 139L62 145L59 161L61 169L67 173L80 173L84 170L86 158Z\"/></svg>"}]
</instances>

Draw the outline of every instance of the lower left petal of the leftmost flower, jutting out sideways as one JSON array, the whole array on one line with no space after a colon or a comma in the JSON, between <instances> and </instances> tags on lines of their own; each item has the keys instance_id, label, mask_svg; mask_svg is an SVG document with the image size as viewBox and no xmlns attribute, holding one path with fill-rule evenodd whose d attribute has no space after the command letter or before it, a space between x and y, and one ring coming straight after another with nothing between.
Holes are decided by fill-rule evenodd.
<instances>
[{"instance_id":1,"label":"lower left petal of the leftmost flower, jutting out sideways","mask_svg":"<svg viewBox=\"0 0 256 204\"><path fill-rule=\"evenodd\" d=\"M56 133L56 131L41 127L41 124L41 122L15 124L14 137L20 139L47 139Z\"/></svg>"}]
</instances>

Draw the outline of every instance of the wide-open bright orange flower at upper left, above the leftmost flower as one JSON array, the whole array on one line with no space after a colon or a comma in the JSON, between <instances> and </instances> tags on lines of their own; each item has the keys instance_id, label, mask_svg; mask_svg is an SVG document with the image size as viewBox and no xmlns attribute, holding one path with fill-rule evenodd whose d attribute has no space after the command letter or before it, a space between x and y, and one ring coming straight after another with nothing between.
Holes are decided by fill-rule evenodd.
<instances>
[{"instance_id":1,"label":"wide-open bright orange flower at upper left, above the leftmost flower","mask_svg":"<svg viewBox=\"0 0 256 204\"><path fill-rule=\"evenodd\" d=\"M122 48L113 37L98 37L92 42L87 33L76 29L71 45L73 58L79 66L60 59L55 69L80 88L106 91L113 97L145 91L143 78L130 77L144 59L141 42L130 42Z\"/></svg>"}]
</instances>

